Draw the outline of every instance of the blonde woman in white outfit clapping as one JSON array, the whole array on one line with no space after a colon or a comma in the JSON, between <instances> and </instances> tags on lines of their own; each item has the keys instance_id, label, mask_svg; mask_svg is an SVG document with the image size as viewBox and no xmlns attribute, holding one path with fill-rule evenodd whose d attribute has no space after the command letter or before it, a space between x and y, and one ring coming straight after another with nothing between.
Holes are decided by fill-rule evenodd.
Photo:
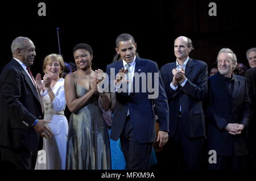
<instances>
[{"instance_id":1,"label":"blonde woman in white outfit clapping","mask_svg":"<svg viewBox=\"0 0 256 181\"><path fill-rule=\"evenodd\" d=\"M65 169L68 121L64 115L66 100L63 70L63 57L49 54L43 62L43 81L40 74L36 75L36 83L44 103L44 119L51 120L48 126L53 135L48 139L43 138L43 151L39 154L35 169Z\"/></svg>"}]
</instances>

